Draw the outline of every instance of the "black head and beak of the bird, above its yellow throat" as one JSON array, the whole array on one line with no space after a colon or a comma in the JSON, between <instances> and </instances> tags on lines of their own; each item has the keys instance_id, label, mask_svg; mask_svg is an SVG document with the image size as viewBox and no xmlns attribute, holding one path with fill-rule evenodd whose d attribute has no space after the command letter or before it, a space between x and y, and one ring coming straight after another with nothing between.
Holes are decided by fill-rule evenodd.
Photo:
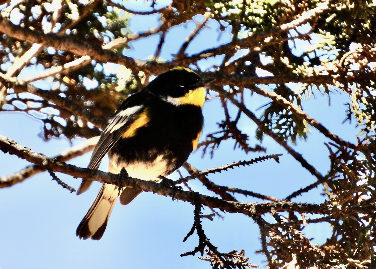
<instances>
[{"instance_id":1,"label":"black head and beak of the bird, above its yellow throat","mask_svg":"<svg viewBox=\"0 0 376 269\"><path fill-rule=\"evenodd\" d=\"M182 97L191 90L203 87L213 79L203 79L191 69L174 67L151 81L144 90L159 96Z\"/></svg>"}]
</instances>

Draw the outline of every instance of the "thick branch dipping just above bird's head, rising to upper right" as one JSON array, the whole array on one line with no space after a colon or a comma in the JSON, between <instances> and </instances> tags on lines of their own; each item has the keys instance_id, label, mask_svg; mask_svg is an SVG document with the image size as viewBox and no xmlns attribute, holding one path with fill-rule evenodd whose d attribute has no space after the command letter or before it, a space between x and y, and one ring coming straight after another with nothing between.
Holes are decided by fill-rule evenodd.
<instances>
[{"instance_id":1,"label":"thick branch dipping just above bird's head, rising to upper right","mask_svg":"<svg viewBox=\"0 0 376 269\"><path fill-rule=\"evenodd\" d=\"M314 10L310 10L310 12L307 14L303 13L299 18L287 24L281 25L280 27L273 28L267 32L252 34L247 38L237 40L235 44L225 44L214 49L209 49L200 52L199 54L193 55L191 57L185 57L183 59L175 60L171 63L163 64L157 64L155 62L145 63L142 61L134 60L133 58L122 55L121 53L116 53L107 49L103 49L100 46L83 42L82 40L77 40L71 37L57 36L56 34L43 34L38 31L21 28L12 24L7 19L2 17L0 17L0 31L14 38L24 40L30 43L38 43L42 46L52 46L55 49L70 51L81 56L88 55L91 58L94 58L97 61L103 63L117 63L126 66L129 69L142 70L144 72L149 72L152 70L153 73L158 74L168 70L171 66L176 64L184 64L185 66L187 66L188 64L193 63L194 61L199 60L200 58L214 56L211 55L212 53L215 53L215 55L221 54L223 53L223 51L226 51L228 49L228 46L247 45L247 48L250 48L250 43L257 44L259 46L259 42L263 42L264 39L273 35L280 36L281 31L288 31L296 25L300 25L300 23L305 23L306 21L309 21L309 19L312 18L309 18L308 14L314 17L324 12L326 10L325 8L327 7L328 3L329 1L321 4Z\"/></svg>"}]
</instances>

